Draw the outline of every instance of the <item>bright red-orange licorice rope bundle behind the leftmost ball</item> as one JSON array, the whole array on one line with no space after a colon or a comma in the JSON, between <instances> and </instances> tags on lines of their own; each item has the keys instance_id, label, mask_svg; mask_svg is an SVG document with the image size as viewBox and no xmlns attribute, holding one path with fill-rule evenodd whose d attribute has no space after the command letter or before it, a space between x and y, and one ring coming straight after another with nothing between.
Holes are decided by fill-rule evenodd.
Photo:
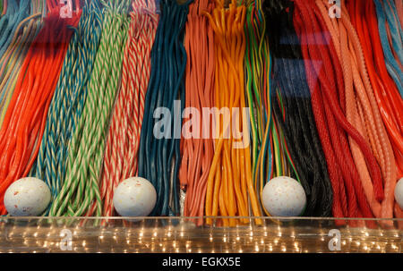
<instances>
[{"instance_id":1,"label":"bright red-orange licorice rope bundle behind the leftmost ball","mask_svg":"<svg viewBox=\"0 0 403 271\"><path fill-rule=\"evenodd\" d=\"M61 19L57 1L47 1L49 12L44 28L32 43L21 66L13 97L0 130L0 213L6 213L4 192L26 176L39 151L47 109L56 89L64 55L81 12Z\"/></svg>"}]
</instances>

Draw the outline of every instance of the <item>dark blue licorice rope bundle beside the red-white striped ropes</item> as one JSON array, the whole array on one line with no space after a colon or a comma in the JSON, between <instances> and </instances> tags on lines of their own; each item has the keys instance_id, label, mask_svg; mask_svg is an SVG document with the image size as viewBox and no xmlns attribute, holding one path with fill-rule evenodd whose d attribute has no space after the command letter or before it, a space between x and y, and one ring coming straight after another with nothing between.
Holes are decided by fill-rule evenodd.
<instances>
[{"instance_id":1,"label":"dark blue licorice rope bundle beside the red-white striped ropes","mask_svg":"<svg viewBox=\"0 0 403 271\"><path fill-rule=\"evenodd\" d=\"M139 149L139 175L154 185L158 195L151 216L179 215L177 174L181 158L180 139L172 138L171 130L173 123L180 125L179 130L182 126L180 115L177 120L177 114L181 114L184 108L184 25L190 2L179 5L176 1L163 0L159 4L161 15L151 51L150 84L145 98ZM178 98L180 112L175 112L174 100ZM162 139L154 135L154 125L157 123L154 112L159 107L166 107L171 113L169 121L163 126L166 137ZM168 132L171 133L170 137L167 136Z\"/></svg>"}]
</instances>

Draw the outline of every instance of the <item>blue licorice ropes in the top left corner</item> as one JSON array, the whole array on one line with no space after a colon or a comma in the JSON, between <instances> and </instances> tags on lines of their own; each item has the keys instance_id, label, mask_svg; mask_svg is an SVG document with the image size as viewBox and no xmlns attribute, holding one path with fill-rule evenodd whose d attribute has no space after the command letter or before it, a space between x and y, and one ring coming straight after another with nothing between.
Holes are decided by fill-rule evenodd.
<instances>
[{"instance_id":1,"label":"blue licorice ropes in the top left corner","mask_svg":"<svg viewBox=\"0 0 403 271\"><path fill-rule=\"evenodd\" d=\"M7 12L0 19L0 57L4 55L7 47L10 46L14 36L13 33L20 22L28 17L29 4L30 1L11 0L8 2Z\"/></svg>"}]
</instances>

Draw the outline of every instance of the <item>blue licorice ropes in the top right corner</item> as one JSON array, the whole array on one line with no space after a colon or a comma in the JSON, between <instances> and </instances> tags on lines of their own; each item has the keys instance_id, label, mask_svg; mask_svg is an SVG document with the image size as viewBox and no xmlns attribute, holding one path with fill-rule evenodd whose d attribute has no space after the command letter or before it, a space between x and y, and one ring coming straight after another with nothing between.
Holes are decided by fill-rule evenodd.
<instances>
[{"instance_id":1,"label":"blue licorice ropes in the top right corner","mask_svg":"<svg viewBox=\"0 0 403 271\"><path fill-rule=\"evenodd\" d=\"M399 89L400 96L403 97L403 72L400 70L399 64L394 58L394 55L391 51L390 48L390 43L388 39L388 34L386 30L386 21L388 21L389 27L390 27L390 32L391 33L396 33L398 30L401 33L401 28L398 28L393 22L393 20L388 20L387 17L387 11L390 9L387 9L387 11L384 10L383 5L381 1L379 0L373 0L373 3L376 6L376 13L378 16L378 28L379 28L379 34L381 37L381 43L382 43L382 48L383 48L383 54L385 55L385 64L386 68L388 69L388 72L390 73L390 77L395 81L396 86ZM387 4L386 4L387 5ZM393 5L395 6L395 5ZM400 23L399 23L400 25ZM398 51L396 51L398 50ZM399 47L395 48L395 52L397 54L402 54L401 52L401 43L400 43L400 49Z\"/></svg>"}]
</instances>

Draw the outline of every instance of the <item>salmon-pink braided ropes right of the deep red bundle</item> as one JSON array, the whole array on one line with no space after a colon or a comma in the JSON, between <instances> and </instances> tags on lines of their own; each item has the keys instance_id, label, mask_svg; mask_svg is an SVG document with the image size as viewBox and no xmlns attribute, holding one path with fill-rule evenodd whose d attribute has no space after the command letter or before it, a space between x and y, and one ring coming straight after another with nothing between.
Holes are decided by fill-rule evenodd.
<instances>
[{"instance_id":1,"label":"salmon-pink braided ropes right of the deep red bundle","mask_svg":"<svg viewBox=\"0 0 403 271\"><path fill-rule=\"evenodd\" d=\"M326 7L323 1L316 1L320 6L322 4L324 10ZM384 129L381 114L375 101L373 88L367 74L364 63L364 53L359 42L356 30L354 30L351 22L348 20L346 8L342 1L341 19L338 21L339 37L333 34L333 42L338 49L340 63L342 64L343 76L345 81L345 103L347 121L356 127L357 131L364 136L371 144L373 152L382 169L382 177L385 180L385 199L382 201L382 207L375 199L372 188L371 177L365 164L364 155L356 145L356 141L351 137L348 138L356 163L358 174L360 174L363 182L364 191L367 200L370 203L373 214L378 217L392 217L393 212L393 195L390 194L390 188L394 190L396 183L396 165L391 149L390 141L387 138ZM324 13L323 13L324 14ZM323 19L329 20L329 17L323 16ZM331 23L328 22L331 26ZM336 29L330 32L335 33ZM342 100L340 102L343 102ZM365 123L365 124L364 124ZM366 129L364 129L366 127ZM381 207L381 208L379 208Z\"/></svg>"}]
</instances>

